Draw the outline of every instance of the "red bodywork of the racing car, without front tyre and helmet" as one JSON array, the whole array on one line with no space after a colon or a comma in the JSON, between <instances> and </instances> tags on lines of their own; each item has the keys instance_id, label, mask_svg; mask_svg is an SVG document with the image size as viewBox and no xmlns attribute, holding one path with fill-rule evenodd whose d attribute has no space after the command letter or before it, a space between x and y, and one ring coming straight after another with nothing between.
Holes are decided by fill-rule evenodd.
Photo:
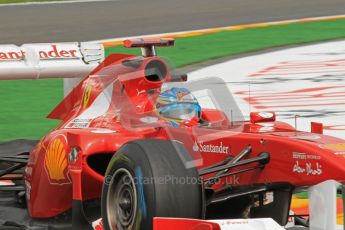
<instances>
[{"instance_id":1,"label":"red bodywork of the racing car, without front tyre and helmet","mask_svg":"<svg viewBox=\"0 0 345 230\"><path fill-rule=\"evenodd\" d=\"M144 55L110 55L49 114L61 123L31 151L25 169L32 218L58 216L70 210L73 201L101 199L114 153L137 140L182 143L205 182L203 206L281 191L281 186L291 198L294 188L345 180L345 140L323 135L322 129L297 131L276 121L273 112L251 113L250 121L236 120L238 108L226 111L222 103L214 103L219 106L202 108L204 124L187 121L172 127L161 121L155 100L162 87L188 84L185 75L173 73L166 60L155 56L155 45L172 43L169 39L127 41L128 47L143 47ZM205 82L220 87L217 81ZM231 98L229 92L212 90L210 84L203 87L194 91L211 91L212 101ZM284 204L287 210L290 198ZM286 218L273 217L284 224L286 212L282 214Z\"/></svg>"}]
</instances>

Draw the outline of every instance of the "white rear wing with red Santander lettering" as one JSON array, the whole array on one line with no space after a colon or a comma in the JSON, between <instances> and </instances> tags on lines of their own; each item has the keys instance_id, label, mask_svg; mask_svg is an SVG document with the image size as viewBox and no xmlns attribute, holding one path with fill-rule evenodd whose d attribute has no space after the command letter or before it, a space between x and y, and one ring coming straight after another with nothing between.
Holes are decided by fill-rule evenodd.
<instances>
[{"instance_id":1,"label":"white rear wing with red Santander lettering","mask_svg":"<svg viewBox=\"0 0 345 230\"><path fill-rule=\"evenodd\" d=\"M80 79L103 60L104 47L95 43L0 45L0 80Z\"/></svg>"}]
</instances>

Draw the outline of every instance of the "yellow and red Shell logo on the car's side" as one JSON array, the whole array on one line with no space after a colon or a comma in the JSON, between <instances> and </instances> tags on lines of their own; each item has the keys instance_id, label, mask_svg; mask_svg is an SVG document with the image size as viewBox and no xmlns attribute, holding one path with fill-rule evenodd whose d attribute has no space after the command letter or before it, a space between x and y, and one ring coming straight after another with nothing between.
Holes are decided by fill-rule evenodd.
<instances>
[{"instance_id":1,"label":"yellow and red Shell logo on the car's side","mask_svg":"<svg viewBox=\"0 0 345 230\"><path fill-rule=\"evenodd\" d=\"M67 165L66 142L62 137L56 138L49 143L45 156L45 166L52 183L69 182Z\"/></svg>"}]
</instances>

